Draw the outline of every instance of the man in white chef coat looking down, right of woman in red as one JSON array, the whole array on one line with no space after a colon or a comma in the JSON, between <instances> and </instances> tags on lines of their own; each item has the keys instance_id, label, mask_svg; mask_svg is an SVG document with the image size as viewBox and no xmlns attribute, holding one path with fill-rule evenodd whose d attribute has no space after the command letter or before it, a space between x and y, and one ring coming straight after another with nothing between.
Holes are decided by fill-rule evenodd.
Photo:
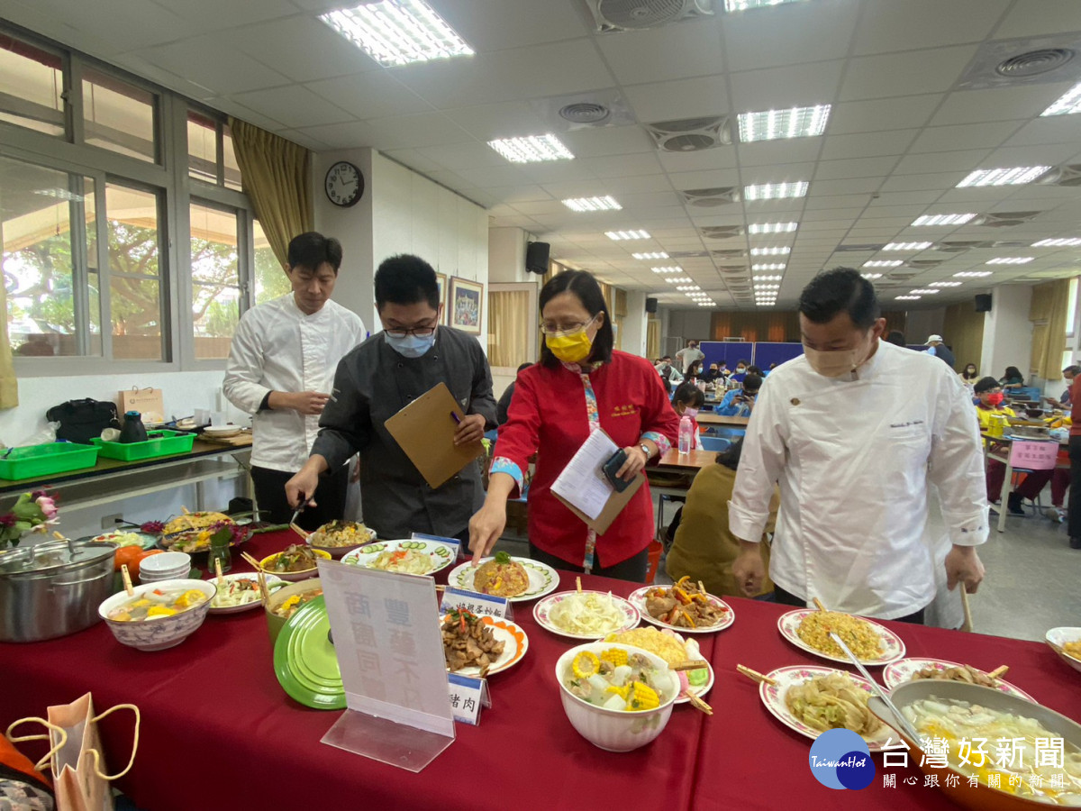
<instances>
[{"instance_id":1,"label":"man in white chef coat looking down, right of woman in red","mask_svg":"<svg viewBox=\"0 0 1081 811\"><path fill-rule=\"evenodd\" d=\"M729 503L743 547L733 574L757 593L757 540L778 483L778 602L817 597L837 611L923 622L935 597L929 479L952 544L949 588L973 593L984 576L975 547L987 540L988 507L971 400L937 358L879 340L885 319L858 271L819 274L799 309L804 354L765 378L747 426Z\"/></svg>"}]
</instances>

